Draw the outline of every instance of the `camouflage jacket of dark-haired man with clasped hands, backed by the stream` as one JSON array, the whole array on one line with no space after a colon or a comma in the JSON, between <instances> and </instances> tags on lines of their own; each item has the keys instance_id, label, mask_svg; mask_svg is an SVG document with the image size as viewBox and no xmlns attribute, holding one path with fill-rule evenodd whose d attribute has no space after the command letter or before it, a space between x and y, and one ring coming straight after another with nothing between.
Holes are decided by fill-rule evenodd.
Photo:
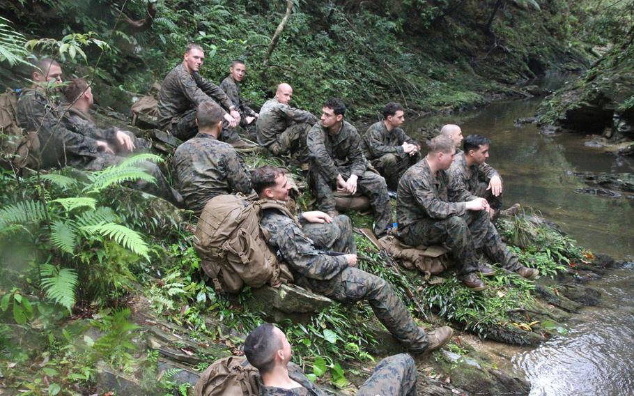
<instances>
[{"instance_id":1,"label":"camouflage jacket of dark-haired man with clasped hands, backed by the stream","mask_svg":"<svg viewBox=\"0 0 634 396\"><path fill-rule=\"evenodd\" d=\"M385 154L405 156L403 142L418 144L414 139L405 135L401 128L387 130L385 123L379 121L373 123L363 136L363 153L369 160L379 158Z\"/></svg>"}]
</instances>

